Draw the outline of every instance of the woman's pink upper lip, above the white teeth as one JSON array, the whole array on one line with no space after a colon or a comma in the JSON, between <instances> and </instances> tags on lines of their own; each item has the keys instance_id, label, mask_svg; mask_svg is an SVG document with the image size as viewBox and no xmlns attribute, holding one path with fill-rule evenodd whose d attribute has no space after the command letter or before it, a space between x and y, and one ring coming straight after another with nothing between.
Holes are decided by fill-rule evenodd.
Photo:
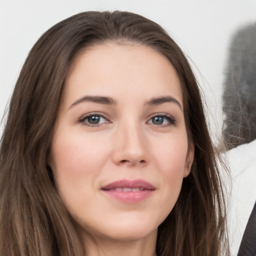
<instances>
[{"instance_id":1,"label":"woman's pink upper lip, above the white teeth","mask_svg":"<svg viewBox=\"0 0 256 256\"><path fill-rule=\"evenodd\" d=\"M148 190L154 190L155 187L150 184L149 182L143 180L143 179L134 179L134 180L128 180L128 179L121 179L121 180L116 180L114 182L111 182L105 186L103 186L101 189L103 190L109 190L109 189L114 189L117 187L129 187L129 188L143 188L143 189L148 189Z\"/></svg>"}]
</instances>

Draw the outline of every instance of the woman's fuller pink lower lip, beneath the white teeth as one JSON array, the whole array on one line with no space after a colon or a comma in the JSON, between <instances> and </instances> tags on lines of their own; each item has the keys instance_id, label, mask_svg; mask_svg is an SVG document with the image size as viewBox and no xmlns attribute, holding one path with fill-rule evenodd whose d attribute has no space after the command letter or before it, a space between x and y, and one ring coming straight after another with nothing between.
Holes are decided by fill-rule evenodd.
<instances>
[{"instance_id":1,"label":"woman's fuller pink lower lip, beneath the white teeth","mask_svg":"<svg viewBox=\"0 0 256 256\"><path fill-rule=\"evenodd\" d=\"M108 196L122 202L134 203L140 202L150 196L154 190L146 189L141 191L116 191L116 190L102 190Z\"/></svg>"}]
</instances>

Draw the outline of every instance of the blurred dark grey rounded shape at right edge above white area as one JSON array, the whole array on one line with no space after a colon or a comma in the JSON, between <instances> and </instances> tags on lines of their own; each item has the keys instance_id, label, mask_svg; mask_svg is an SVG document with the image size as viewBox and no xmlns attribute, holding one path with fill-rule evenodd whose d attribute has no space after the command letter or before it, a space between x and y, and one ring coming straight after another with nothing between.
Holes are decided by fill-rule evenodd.
<instances>
[{"instance_id":1,"label":"blurred dark grey rounded shape at right edge above white area","mask_svg":"<svg viewBox=\"0 0 256 256\"><path fill-rule=\"evenodd\" d=\"M232 38L222 110L227 150L256 138L256 23L242 27Z\"/></svg>"}]
</instances>

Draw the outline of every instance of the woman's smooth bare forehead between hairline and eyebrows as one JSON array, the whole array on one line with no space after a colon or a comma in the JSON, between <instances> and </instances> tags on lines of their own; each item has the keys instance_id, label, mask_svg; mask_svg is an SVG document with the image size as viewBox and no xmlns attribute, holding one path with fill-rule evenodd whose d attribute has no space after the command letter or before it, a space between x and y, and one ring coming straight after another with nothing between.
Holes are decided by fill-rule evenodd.
<instances>
[{"instance_id":1,"label":"woman's smooth bare forehead between hairline and eyebrows","mask_svg":"<svg viewBox=\"0 0 256 256\"><path fill-rule=\"evenodd\" d=\"M143 97L172 94L182 104L178 76L169 60L151 47L106 42L79 51L65 79L64 97L79 94ZM156 96L156 95L155 95Z\"/></svg>"}]
</instances>

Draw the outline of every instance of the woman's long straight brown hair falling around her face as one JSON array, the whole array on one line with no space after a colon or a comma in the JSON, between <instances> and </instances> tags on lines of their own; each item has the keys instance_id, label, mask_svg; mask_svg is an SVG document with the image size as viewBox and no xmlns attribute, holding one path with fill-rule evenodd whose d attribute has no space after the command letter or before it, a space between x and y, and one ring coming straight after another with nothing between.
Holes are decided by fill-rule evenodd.
<instances>
[{"instance_id":1,"label":"woman's long straight brown hair falling around her face","mask_svg":"<svg viewBox=\"0 0 256 256\"><path fill-rule=\"evenodd\" d=\"M218 167L193 72L181 49L158 24L121 11L71 16L47 30L28 54L1 138L0 255L86 254L75 221L58 196L47 154L74 55L106 40L138 42L157 50L175 68L182 86L194 161L174 208L158 227L157 254L228 255Z\"/></svg>"}]
</instances>

